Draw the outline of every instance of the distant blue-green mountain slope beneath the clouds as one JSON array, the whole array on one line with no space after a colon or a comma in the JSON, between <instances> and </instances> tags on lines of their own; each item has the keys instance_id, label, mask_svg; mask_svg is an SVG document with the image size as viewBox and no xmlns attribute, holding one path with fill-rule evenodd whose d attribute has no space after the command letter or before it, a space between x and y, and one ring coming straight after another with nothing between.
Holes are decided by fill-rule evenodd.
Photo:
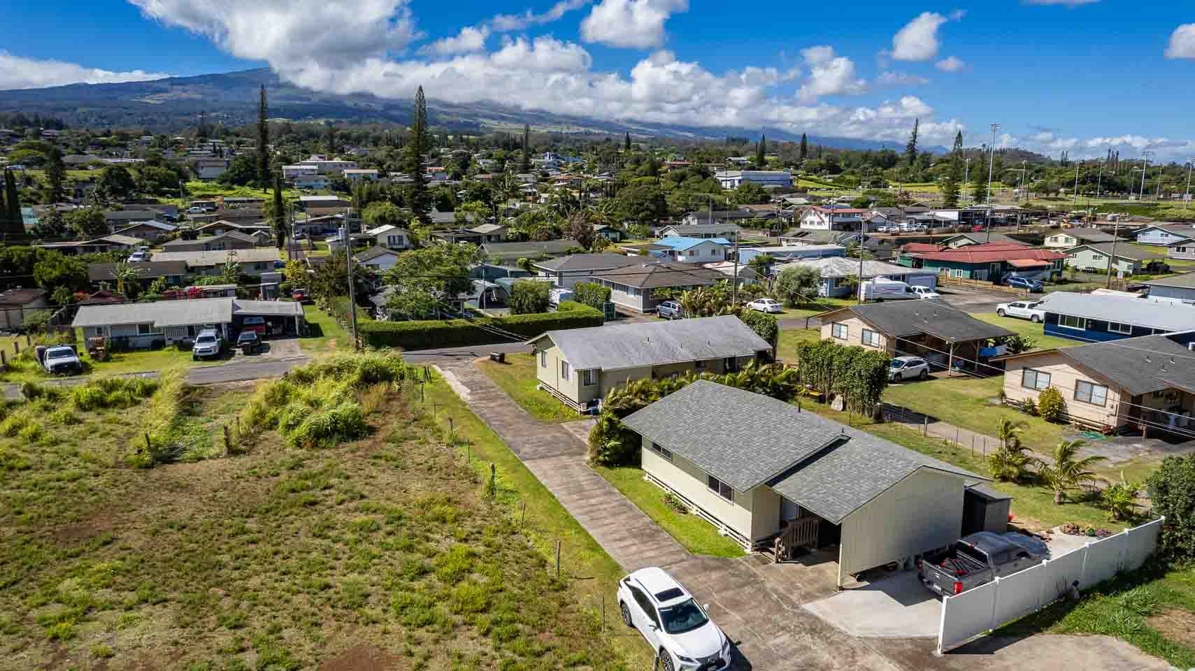
<instances>
[{"instance_id":1,"label":"distant blue-green mountain slope beneath the clouds","mask_svg":"<svg viewBox=\"0 0 1195 671\"><path fill-rule=\"evenodd\" d=\"M265 85L270 96L270 117L294 121L338 119L406 124L411 103L368 94L339 96L300 88L281 80L266 68L225 74L178 76L155 81L124 84L72 84L50 88L0 91L0 111L41 113L66 121L71 125L91 128L145 127L155 131L174 131L194 125L198 115L209 123L237 127L257 118L257 92ZM526 111L497 103L452 104L428 100L433 125L458 130L517 130L525 123L537 130L592 133L721 140L727 136L756 137L760 131L770 140L799 140L785 130L705 128L635 122L607 122ZM810 136L816 144L842 149L901 149L899 142L854 140L848 137ZM924 147L943 153L944 147Z\"/></svg>"}]
</instances>

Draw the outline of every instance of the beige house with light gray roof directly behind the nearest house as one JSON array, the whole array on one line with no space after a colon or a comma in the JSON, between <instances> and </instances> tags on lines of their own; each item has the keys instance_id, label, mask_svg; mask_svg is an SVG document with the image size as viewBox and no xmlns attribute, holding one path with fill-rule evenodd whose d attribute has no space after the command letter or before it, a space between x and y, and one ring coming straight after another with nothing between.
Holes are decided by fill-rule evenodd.
<instances>
[{"instance_id":1,"label":"beige house with light gray roof directly behind the nearest house","mask_svg":"<svg viewBox=\"0 0 1195 671\"><path fill-rule=\"evenodd\" d=\"M549 331L528 344L539 387L581 411L633 380L729 373L772 353L734 315Z\"/></svg>"}]
</instances>

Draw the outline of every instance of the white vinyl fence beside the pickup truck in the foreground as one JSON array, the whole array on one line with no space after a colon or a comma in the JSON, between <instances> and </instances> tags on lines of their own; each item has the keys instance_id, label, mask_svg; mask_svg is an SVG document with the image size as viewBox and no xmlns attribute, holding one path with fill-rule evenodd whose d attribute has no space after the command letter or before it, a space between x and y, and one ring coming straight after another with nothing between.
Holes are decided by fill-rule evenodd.
<instances>
[{"instance_id":1,"label":"white vinyl fence beside the pickup truck in the foreground","mask_svg":"<svg viewBox=\"0 0 1195 671\"><path fill-rule=\"evenodd\" d=\"M943 597L938 653L1049 605L1066 596L1074 581L1079 583L1081 590L1102 583L1120 571L1140 567L1153 554L1164 519L1154 519L1115 536L1086 543L961 595Z\"/></svg>"}]
</instances>

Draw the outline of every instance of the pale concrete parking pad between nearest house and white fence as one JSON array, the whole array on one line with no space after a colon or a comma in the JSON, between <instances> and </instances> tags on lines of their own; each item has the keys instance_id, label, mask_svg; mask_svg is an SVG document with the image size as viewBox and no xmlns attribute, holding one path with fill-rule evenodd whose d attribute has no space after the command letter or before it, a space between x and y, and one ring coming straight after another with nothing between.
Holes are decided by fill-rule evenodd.
<instances>
[{"instance_id":1,"label":"pale concrete parking pad between nearest house and white fence","mask_svg":"<svg viewBox=\"0 0 1195 671\"><path fill-rule=\"evenodd\" d=\"M804 609L852 636L931 638L942 618L942 602L921 585L917 571L900 571Z\"/></svg>"}]
</instances>

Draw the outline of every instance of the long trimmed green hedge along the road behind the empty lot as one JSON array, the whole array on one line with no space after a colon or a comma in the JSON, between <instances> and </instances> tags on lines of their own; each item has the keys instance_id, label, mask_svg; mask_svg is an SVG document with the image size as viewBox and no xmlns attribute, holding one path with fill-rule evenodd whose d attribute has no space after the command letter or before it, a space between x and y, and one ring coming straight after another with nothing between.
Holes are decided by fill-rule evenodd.
<instances>
[{"instance_id":1,"label":"long trimmed green hedge along the road behind the empty lot","mask_svg":"<svg viewBox=\"0 0 1195 671\"><path fill-rule=\"evenodd\" d=\"M490 343L511 343L491 330L529 339L545 331L601 326L603 315L588 306L564 312L519 314L507 318L449 319L430 321L366 321L357 324L357 333L366 346L403 347L461 347Z\"/></svg>"}]
</instances>

